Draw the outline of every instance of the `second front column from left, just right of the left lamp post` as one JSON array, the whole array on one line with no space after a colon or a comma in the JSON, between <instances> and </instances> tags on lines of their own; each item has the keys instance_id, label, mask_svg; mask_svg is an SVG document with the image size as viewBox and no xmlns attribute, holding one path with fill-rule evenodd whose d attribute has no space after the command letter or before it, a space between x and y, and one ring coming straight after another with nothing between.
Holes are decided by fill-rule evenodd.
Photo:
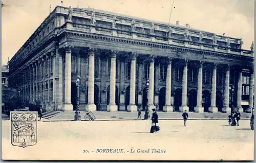
<instances>
[{"instance_id":1,"label":"second front column from left, just right of the left lamp post","mask_svg":"<svg viewBox=\"0 0 256 163\"><path fill-rule=\"evenodd\" d=\"M94 104L94 55L95 50L89 49L89 72L88 72L88 104L86 109L88 111L96 111L96 105Z\"/></svg>"}]
</instances>

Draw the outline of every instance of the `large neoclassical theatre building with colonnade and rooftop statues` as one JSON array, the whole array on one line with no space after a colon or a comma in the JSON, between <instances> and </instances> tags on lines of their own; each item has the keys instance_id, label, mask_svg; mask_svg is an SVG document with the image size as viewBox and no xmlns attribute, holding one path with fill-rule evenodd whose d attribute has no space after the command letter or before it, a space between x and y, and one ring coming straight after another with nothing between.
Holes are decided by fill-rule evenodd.
<instances>
[{"instance_id":1,"label":"large neoclassical theatre building with colonnade and rooftop statues","mask_svg":"<svg viewBox=\"0 0 256 163\"><path fill-rule=\"evenodd\" d=\"M9 84L47 110L76 109L79 75L81 110L144 110L148 99L159 111L249 112L254 53L242 43L179 21L57 6L11 59Z\"/></svg>"}]
</instances>

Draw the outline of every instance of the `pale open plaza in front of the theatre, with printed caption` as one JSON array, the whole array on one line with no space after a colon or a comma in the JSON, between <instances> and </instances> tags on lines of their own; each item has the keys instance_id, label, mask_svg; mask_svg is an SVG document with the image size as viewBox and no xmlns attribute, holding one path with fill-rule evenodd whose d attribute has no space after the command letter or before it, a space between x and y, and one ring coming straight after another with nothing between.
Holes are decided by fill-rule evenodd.
<instances>
[{"instance_id":1,"label":"pale open plaza in front of the theatre, with printed caption","mask_svg":"<svg viewBox=\"0 0 256 163\"><path fill-rule=\"evenodd\" d=\"M159 133L150 133L151 121L143 120L38 122L37 144L22 148L11 145L10 121L2 121L2 155L3 159L52 160L253 160L249 120L242 120L240 126L228 126L227 120L188 120L187 127L181 120L160 120L159 126ZM96 153L97 149L124 153ZM150 153L139 153L148 149Z\"/></svg>"}]
</instances>

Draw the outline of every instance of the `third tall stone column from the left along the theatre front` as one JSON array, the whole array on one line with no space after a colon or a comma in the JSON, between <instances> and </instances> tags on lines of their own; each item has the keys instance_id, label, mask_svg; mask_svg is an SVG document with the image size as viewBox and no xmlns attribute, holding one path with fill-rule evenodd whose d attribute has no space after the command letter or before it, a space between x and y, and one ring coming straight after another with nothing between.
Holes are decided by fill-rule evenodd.
<instances>
[{"instance_id":1,"label":"third tall stone column from the left along the theatre front","mask_svg":"<svg viewBox=\"0 0 256 163\"><path fill-rule=\"evenodd\" d=\"M116 105L116 52L111 51L111 67L110 67L110 104L108 111L117 111Z\"/></svg>"}]
</instances>

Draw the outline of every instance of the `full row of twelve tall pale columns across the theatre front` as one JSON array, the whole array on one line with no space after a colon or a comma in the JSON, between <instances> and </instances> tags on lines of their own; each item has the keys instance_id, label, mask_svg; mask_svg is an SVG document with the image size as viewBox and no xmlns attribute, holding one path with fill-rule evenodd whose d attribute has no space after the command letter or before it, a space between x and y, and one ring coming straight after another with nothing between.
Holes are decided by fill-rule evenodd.
<instances>
[{"instance_id":1,"label":"full row of twelve tall pale columns across the theatre front","mask_svg":"<svg viewBox=\"0 0 256 163\"><path fill-rule=\"evenodd\" d=\"M110 72L110 103L107 107L108 111L117 111L117 106L115 104L115 93L116 93L116 52L111 51L111 72ZM94 104L94 55L95 50L89 49L89 74L88 74L88 105L86 106L87 110L95 111L96 105ZM72 110L71 105L71 51L66 50L66 62L65 62L65 109ZM150 85L148 87L148 104L150 110L155 108L154 106L154 56L150 56ZM131 53L131 80L130 80L130 104L127 106L127 111L137 111L137 106L135 104L136 96L136 54ZM183 77L182 77L182 105L179 108L179 111L188 110L187 106L187 64L188 60L185 60L183 68ZM195 107L195 112L203 112L202 107L202 73L203 72L203 62L199 63L198 69L198 86L197 86L197 106ZM226 71L226 80L225 80L225 95L224 95L224 107L222 111L229 112L229 66ZM167 66L167 75L166 75L166 105L163 108L163 111L173 111L171 105L171 88L172 88L172 58L168 58ZM209 107L209 112L217 112L218 108L216 107L216 78L217 78L217 64L214 64L211 78L211 105ZM237 94L237 109L242 111L242 71L239 73L238 81L238 94ZM249 107L253 107L253 73L250 78L250 98L249 98Z\"/></svg>"}]
</instances>

